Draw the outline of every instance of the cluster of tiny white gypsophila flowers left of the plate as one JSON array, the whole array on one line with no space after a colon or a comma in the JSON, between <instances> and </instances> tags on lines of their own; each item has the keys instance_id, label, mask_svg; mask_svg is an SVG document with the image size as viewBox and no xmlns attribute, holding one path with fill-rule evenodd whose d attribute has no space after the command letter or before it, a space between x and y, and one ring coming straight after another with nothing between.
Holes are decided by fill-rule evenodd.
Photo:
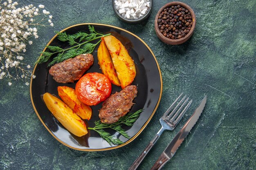
<instances>
[{"instance_id":1,"label":"cluster of tiny white gypsophila flowers left of the plate","mask_svg":"<svg viewBox=\"0 0 256 170\"><path fill-rule=\"evenodd\" d=\"M38 29L34 26L45 26L45 23L54 25L52 15L42 4L38 8L33 4L18 7L18 2L0 1L0 79L20 78L28 82L32 72L31 66L20 63L20 60L23 60L21 53L26 52L26 44L33 44L30 38L38 38ZM17 73L17 76L13 73ZM35 76L32 75L32 78Z\"/></svg>"}]
</instances>

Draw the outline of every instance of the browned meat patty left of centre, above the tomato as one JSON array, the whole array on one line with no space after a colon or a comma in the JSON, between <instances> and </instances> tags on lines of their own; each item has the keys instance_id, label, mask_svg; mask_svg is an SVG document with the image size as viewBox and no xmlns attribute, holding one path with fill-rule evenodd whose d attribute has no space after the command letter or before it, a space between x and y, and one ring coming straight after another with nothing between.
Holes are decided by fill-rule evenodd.
<instances>
[{"instance_id":1,"label":"browned meat patty left of centre, above the tomato","mask_svg":"<svg viewBox=\"0 0 256 170\"><path fill-rule=\"evenodd\" d=\"M61 63L55 64L49 70L53 79L59 83L73 83L82 77L93 64L91 54L81 54L74 58L67 59Z\"/></svg>"}]
</instances>

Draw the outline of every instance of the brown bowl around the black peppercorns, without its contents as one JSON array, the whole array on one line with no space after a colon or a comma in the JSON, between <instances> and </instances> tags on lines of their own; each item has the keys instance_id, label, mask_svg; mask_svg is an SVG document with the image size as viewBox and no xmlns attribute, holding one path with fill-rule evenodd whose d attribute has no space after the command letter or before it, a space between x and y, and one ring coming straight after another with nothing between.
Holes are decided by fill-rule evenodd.
<instances>
[{"instance_id":1,"label":"brown bowl around the black peppercorns, without its contents","mask_svg":"<svg viewBox=\"0 0 256 170\"><path fill-rule=\"evenodd\" d=\"M192 16L192 26L191 26L191 30L189 31L189 33L180 39L169 39L166 38L161 32L160 29L158 28L158 16L160 15L160 13L167 7L171 7L171 6L177 6L180 5L184 8L186 8L187 10L189 10L189 12L191 13ZM157 37L162 40L162 42L166 43L166 44L171 44L171 45L178 45L178 44L182 44L183 42L186 42L187 40L189 40L189 38L191 37L191 35L194 32L195 29L195 24L196 24L196 18L195 18L195 13L193 11L193 9L191 9L191 7L189 7L187 4L183 3L183 2L170 2L168 4L165 4L161 9L159 9L156 17L155 17L155 32L157 34Z\"/></svg>"}]
</instances>

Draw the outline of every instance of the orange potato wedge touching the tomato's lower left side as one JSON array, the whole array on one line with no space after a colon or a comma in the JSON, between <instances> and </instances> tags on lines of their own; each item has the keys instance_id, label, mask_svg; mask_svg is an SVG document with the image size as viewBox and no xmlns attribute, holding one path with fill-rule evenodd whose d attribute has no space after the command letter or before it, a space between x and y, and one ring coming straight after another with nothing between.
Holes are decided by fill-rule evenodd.
<instances>
[{"instance_id":1,"label":"orange potato wedge touching the tomato's lower left side","mask_svg":"<svg viewBox=\"0 0 256 170\"><path fill-rule=\"evenodd\" d=\"M90 120L92 116L92 108L86 104L83 104L77 97L76 91L73 88L67 86L58 86L58 95L63 102L69 106L76 115L82 119Z\"/></svg>"}]
</instances>

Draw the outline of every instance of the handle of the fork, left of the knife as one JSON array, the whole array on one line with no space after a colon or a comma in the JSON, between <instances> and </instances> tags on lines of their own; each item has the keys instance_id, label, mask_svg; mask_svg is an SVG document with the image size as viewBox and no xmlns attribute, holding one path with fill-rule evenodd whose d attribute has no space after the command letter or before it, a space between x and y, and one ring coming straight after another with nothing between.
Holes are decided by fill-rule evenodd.
<instances>
[{"instance_id":1,"label":"handle of the fork, left of the knife","mask_svg":"<svg viewBox=\"0 0 256 170\"><path fill-rule=\"evenodd\" d=\"M139 155L139 157L132 163L132 166L128 170L136 170L139 166L139 164L142 162L142 160L146 157L149 150L154 146L157 139L162 135L162 132L164 131L164 128L161 128L159 132L155 135L155 137L150 141L148 146L144 149L144 151Z\"/></svg>"}]
</instances>

